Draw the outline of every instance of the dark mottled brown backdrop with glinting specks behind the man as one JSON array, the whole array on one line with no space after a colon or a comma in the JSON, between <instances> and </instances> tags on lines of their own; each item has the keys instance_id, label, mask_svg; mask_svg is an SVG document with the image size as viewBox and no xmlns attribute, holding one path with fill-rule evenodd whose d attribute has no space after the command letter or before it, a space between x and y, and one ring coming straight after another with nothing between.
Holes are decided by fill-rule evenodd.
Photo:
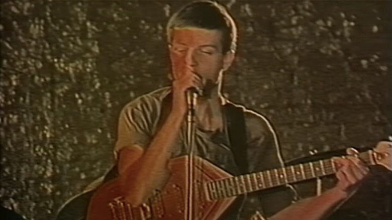
<instances>
[{"instance_id":1,"label":"dark mottled brown backdrop with glinting specks behind the man","mask_svg":"<svg viewBox=\"0 0 392 220\"><path fill-rule=\"evenodd\" d=\"M184 2L2 1L4 206L51 219L110 168L122 106L167 84ZM391 134L390 1L222 2L240 37L225 95L269 117L286 161Z\"/></svg>"}]
</instances>

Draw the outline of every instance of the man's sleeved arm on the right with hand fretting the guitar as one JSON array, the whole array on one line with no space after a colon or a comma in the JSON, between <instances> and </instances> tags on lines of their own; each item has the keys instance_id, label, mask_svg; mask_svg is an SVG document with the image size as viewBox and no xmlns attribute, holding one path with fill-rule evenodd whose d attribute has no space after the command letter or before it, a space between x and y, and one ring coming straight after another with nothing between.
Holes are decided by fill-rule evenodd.
<instances>
[{"instance_id":1,"label":"man's sleeved arm on the right with hand fretting the guitar","mask_svg":"<svg viewBox=\"0 0 392 220\"><path fill-rule=\"evenodd\" d=\"M257 115L253 115L253 120L252 117L249 117L250 120L248 120L247 125L247 127L253 128L248 132L250 134L248 137L250 141L249 158L250 161L253 161L253 163L250 163L250 172L283 166L279 144L273 128L265 118L261 116L255 118L254 116ZM254 131L258 133L255 134ZM289 205L287 202L290 201L290 196L286 189L272 193L268 193L268 191L259 192L258 198L261 201L263 215L265 217L272 215L269 218L270 220L292 219L292 216L301 220L319 220L326 217L334 208L354 193L358 184L369 171L355 157L349 157L348 159L336 158L335 163L340 167L336 173L339 182L336 187L320 196L303 199Z\"/></svg>"}]
</instances>

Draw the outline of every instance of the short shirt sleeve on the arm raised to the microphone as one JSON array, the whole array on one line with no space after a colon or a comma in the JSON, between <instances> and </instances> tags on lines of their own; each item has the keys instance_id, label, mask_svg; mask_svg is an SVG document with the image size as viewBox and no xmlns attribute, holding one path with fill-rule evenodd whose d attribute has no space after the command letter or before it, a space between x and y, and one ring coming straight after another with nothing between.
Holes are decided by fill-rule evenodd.
<instances>
[{"instance_id":1,"label":"short shirt sleeve on the arm raised to the microphone","mask_svg":"<svg viewBox=\"0 0 392 220\"><path fill-rule=\"evenodd\" d=\"M148 107L142 104L126 105L119 117L117 141L114 156L117 160L118 153L124 147L139 146L145 148L151 141L151 120Z\"/></svg>"}]
</instances>

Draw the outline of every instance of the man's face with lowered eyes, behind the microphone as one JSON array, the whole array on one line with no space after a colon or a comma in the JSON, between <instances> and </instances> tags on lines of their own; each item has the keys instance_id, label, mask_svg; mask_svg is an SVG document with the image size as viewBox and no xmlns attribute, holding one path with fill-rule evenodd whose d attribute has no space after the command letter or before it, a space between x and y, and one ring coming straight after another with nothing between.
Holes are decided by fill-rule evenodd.
<instances>
[{"instance_id":1,"label":"man's face with lowered eyes, behind the microphone","mask_svg":"<svg viewBox=\"0 0 392 220\"><path fill-rule=\"evenodd\" d=\"M170 59L174 79L181 74L199 74L204 83L214 84L232 62L232 54L222 53L222 33L199 28L174 29L171 32ZM228 55L231 54L231 55Z\"/></svg>"}]
</instances>

